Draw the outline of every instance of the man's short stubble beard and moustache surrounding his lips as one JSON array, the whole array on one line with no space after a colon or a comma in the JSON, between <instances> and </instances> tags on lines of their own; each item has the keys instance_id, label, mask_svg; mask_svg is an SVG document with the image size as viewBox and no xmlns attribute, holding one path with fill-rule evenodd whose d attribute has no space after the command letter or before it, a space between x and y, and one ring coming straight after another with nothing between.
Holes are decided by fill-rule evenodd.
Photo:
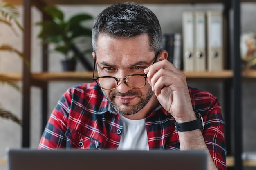
<instances>
[{"instance_id":1,"label":"man's short stubble beard and moustache surrounding his lips","mask_svg":"<svg viewBox=\"0 0 256 170\"><path fill-rule=\"evenodd\" d=\"M154 92L151 90L151 87L148 88L146 94L142 94L139 90L130 89L126 93L120 93L117 90L113 90L107 96L104 90L102 90L104 96L106 96L107 100L114 107L115 111L121 115L134 115L141 111L146 104L148 104L149 100L153 96ZM125 97L125 96L137 96L140 98L139 102L135 105L130 105L130 103L122 103L122 105L117 105L114 101L116 96Z\"/></svg>"}]
</instances>

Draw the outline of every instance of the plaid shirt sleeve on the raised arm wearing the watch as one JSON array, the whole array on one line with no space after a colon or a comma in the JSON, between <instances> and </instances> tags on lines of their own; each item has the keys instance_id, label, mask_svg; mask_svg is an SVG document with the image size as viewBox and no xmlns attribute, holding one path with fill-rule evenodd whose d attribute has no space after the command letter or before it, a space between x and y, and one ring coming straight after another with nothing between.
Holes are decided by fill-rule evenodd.
<instances>
[{"instance_id":1,"label":"plaid shirt sleeve on the raised arm wearing the watch","mask_svg":"<svg viewBox=\"0 0 256 170\"><path fill-rule=\"evenodd\" d=\"M195 112L203 115L205 128L202 133L213 162L218 170L227 170L227 152L224 135L225 122L222 118L218 99L208 92L202 92L192 102Z\"/></svg>"}]
</instances>

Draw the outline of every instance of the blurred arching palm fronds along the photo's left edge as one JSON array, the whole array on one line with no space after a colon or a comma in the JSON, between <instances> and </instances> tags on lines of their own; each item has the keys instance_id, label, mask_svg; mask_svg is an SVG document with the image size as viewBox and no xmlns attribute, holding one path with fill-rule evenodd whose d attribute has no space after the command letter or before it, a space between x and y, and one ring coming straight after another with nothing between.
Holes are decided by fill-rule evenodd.
<instances>
[{"instance_id":1,"label":"blurred arching palm fronds along the photo's left edge","mask_svg":"<svg viewBox=\"0 0 256 170\"><path fill-rule=\"evenodd\" d=\"M18 28L23 31L22 26L17 21L18 16L19 16L19 12L15 6L9 5L4 1L0 1L0 22L9 26L13 30L13 33L15 34L16 32L15 32L15 29L13 28L13 24L16 24L16 26L18 26ZM25 59L22 52L20 52L19 50L17 50L16 48L12 47L9 44L0 44L0 52L1 51L12 52L14 54L17 54L18 57ZM7 85L10 85L14 89L21 92L20 87L15 82L11 81L8 77L0 76L0 83L6 83ZM22 121L15 114L11 113L10 111L7 111L1 106L0 106L0 117L13 120L14 122L22 125Z\"/></svg>"}]
</instances>

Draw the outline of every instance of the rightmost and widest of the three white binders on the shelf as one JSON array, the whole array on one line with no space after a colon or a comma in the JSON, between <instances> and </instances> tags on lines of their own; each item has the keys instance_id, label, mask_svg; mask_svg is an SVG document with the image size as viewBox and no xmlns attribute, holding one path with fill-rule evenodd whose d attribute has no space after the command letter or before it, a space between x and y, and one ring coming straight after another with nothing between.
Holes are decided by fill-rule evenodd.
<instances>
[{"instance_id":1,"label":"rightmost and widest of the three white binders on the shelf","mask_svg":"<svg viewBox=\"0 0 256 170\"><path fill-rule=\"evenodd\" d=\"M207 11L207 69L224 69L223 16L220 11Z\"/></svg>"}]
</instances>

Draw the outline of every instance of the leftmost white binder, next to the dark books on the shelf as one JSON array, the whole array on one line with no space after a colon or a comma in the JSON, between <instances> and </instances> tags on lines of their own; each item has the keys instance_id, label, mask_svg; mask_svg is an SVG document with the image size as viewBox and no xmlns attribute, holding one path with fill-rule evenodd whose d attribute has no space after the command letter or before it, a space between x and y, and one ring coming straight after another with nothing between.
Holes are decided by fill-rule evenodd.
<instances>
[{"instance_id":1,"label":"leftmost white binder, next to the dark books on the shelf","mask_svg":"<svg viewBox=\"0 0 256 170\"><path fill-rule=\"evenodd\" d=\"M182 13L183 70L194 71L193 12Z\"/></svg>"}]
</instances>

